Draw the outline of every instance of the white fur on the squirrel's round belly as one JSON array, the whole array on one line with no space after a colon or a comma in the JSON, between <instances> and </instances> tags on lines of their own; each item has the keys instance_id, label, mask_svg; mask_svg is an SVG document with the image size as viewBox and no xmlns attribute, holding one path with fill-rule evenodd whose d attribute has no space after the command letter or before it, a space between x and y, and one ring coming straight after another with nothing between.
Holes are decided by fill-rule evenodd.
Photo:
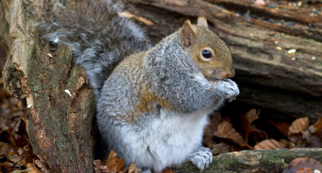
<instances>
[{"instance_id":1,"label":"white fur on the squirrel's round belly","mask_svg":"<svg viewBox=\"0 0 322 173\"><path fill-rule=\"evenodd\" d=\"M154 166L155 172L183 163L186 157L201 146L203 130L208 123L211 110L193 114L178 114L164 109L161 116L149 123L140 139L134 131L124 136L132 151L137 152L137 162L142 166Z\"/></svg>"}]
</instances>

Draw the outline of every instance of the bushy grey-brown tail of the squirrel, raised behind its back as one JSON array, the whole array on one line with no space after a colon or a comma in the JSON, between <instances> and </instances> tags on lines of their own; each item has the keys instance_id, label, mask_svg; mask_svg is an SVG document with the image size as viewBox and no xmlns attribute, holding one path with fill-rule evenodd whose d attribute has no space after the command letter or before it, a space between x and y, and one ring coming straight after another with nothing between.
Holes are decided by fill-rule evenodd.
<instances>
[{"instance_id":1,"label":"bushy grey-brown tail of the squirrel, raised behind its back","mask_svg":"<svg viewBox=\"0 0 322 173\"><path fill-rule=\"evenodd\" d=\"M85 68L97 99L108 75L125 56L151 47L143 29L118 15L120 9L112 0L84 0L46 24L54 33L44 37L50 42L58 38L59 44L73 51L74 61Z\"/></svg>"}]
</instances>

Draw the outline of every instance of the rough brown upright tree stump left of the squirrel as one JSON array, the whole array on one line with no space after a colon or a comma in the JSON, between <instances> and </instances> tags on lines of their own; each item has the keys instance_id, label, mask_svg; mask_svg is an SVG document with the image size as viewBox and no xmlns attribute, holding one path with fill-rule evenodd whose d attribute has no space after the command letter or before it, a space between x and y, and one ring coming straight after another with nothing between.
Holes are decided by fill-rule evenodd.
<instances>
[{"instance_id":1,"label":"rough brown upright tree stump left of the squirrel","mask_svg":"<svg viewBox=\"0 0 322 173\"><path fill-rule=\"evenodd\" d=\"M59 12L55 6L62 4L1 0L0 5L1 31L9 31L1 37L9 50L4 86L19 98L34 152L54 173L93 172L94 92L71 52L50 51L37 26L41 14Z\"/></svg>"}]
</instances>

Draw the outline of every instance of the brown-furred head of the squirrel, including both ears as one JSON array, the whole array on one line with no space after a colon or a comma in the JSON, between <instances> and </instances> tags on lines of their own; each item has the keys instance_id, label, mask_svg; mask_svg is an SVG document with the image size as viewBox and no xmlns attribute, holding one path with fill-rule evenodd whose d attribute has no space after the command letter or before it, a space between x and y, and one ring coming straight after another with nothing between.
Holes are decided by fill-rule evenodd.
<instances>
[{"instance_id":1,"label":"brown-furred head of the squirrel, including both ears","mask_svg":"<svg viewBox=\"0 0 322 173\"><path fill-rule=\"evenodd\" d=\"M187 20L181 30L182 46L207 80L222 80L235 75L227 45L208 28L207 19L199 17L197 25Z\"/></svg>"}]
</instances>

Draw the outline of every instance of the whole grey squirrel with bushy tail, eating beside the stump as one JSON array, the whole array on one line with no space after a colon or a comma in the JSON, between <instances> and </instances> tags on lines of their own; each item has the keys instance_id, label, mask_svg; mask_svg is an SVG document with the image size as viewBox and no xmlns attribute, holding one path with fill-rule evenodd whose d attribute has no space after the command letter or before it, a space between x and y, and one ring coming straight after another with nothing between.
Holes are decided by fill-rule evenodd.
<instances>
[{"instance_id":1,"label":"whole grey squirrel with bushy tail, eating beside the stump","mask_svg":"<svg viewBox=\"0 0 322 173\"><path fill-rule=\"evenodd\" d=\"M191 161L201 171L213 155L202 147L208 114L235 99L231 53L205 17L151 46L145 32L118 15L112 0L77 2L48 29L86 70L97 100L106 150L142 172ZM54 41L56 40L56 41ZM215 83L214 83L215 82Z\"/></svg>"}]
</instances>

